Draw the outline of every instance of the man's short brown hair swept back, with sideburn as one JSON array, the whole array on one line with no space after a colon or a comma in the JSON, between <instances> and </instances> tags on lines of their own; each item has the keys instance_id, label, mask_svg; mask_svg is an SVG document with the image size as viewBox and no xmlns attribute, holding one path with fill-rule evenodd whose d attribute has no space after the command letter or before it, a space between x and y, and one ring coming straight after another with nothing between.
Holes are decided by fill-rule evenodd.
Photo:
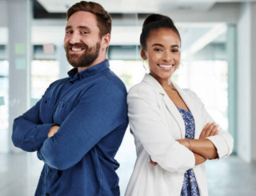
<instances>
[{"instance_id":1,"label":"man's short brown hair swept back, with sideburn","mask_svg":"<svg viewBox=\"0 0 256 196\"><path fill-rule=\"evenodd\" d=\"M97 20L97 26L99 28L99 38L102 38L105 34L111 33L112 19L110 14L104 10L104 8L97 2L78 2L70 7L66 12L66 20L68 21L70 16L77 11L86 11L94 14Z\"/></svg>"}]
</instances>

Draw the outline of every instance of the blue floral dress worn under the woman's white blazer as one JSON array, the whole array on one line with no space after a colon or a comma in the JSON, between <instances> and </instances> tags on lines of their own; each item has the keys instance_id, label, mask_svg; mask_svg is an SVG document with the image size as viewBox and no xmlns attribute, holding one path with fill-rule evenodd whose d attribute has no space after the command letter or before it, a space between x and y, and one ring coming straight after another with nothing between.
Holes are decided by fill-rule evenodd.
<instances>
[{"instance_id":1,"label":"blue floral dress worn under the woman's white blazer","mask_svg":"<svg viewBox=\"0 0 256 196\"><path fill-rule=\"evenodd\" d=\"M178 107L186 126L185 138L194 139L194 118L190 111ZM182 186L181 196L199 196L198 183L193 169L186 170Z\"/></svg>"}]
</instances>

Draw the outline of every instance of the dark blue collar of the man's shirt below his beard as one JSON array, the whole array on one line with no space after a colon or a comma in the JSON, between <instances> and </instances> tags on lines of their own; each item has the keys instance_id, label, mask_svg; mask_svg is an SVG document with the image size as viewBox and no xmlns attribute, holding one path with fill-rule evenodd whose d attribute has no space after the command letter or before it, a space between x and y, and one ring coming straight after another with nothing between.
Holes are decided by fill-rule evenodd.
<instances>
[{"instance_id":1,"label":"dark blue collar of the man's shirt below his beard","mask_svg":"<svg viewBox=\"0 0 256 196\"><path fill-rule=\"evenodd\" d=\"M105 60L104 62L100 62L94 66L90 66L86 68L86 70L82 70L78 72L78 68L73 68L67 74L70 77L70 81L74 82L75 80L82 80L83 78L88 78L91 75L97 74L102 70L105 70L110 67L109 60Z\"/></svg>"}]
</instances>

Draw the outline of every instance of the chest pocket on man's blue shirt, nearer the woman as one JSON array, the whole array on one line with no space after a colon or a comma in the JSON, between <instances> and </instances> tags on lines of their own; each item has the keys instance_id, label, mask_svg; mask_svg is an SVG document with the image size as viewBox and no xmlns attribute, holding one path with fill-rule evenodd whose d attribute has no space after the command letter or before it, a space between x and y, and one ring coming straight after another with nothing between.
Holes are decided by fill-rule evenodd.
<instances>
[{"instance_id":1,"label":"chest pocket on man's blue shirt, nearer the woman","mask_svg":"<svg viewBox=\"0 0 256 196\"><path fill-rule=\"evenodd\" d=\"M54 123L61 125L73 109L74 102L58 102L54 112Z\"/></svg>"}]
</instances>

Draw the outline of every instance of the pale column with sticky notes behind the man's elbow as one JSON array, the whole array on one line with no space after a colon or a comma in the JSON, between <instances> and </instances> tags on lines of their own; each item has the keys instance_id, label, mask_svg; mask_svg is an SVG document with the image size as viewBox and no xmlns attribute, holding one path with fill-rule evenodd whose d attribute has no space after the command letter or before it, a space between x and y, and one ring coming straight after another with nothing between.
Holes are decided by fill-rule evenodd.
<instances>
[{"instance_id":1,"label":"pale column with sticky notes behind the man's elbow","mask_svg":"<svg viewBox=\"0 0 256 196\"><path fill-rule=\"evenodd\" d=\"M10 0L7 5L9 42L9 130L14 118L30 107L30 0ZM10 139L10 138L9 138ZM18 151L10 141L10 151Z\"/></svg>"}]
</instances>

